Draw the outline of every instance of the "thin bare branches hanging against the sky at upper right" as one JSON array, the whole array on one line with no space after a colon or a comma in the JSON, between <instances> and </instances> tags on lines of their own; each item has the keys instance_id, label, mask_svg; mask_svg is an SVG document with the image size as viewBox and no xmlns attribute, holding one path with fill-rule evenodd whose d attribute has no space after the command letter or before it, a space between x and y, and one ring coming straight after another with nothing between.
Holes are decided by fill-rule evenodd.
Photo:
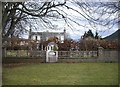
<instances>
[{"instance_id":1,"label":"thin bare branches hanging against the sky at upper right","mask_svg":"<svg viewBox=\"0 0 120 87\"><path fill-rule=\"evenodd\" d=\"M120 2L83 2L76 1L75 4L84 12L84 17L90 23L108 26L112 28L120 22L118 12Z\"/></svg>"}]
</instances>

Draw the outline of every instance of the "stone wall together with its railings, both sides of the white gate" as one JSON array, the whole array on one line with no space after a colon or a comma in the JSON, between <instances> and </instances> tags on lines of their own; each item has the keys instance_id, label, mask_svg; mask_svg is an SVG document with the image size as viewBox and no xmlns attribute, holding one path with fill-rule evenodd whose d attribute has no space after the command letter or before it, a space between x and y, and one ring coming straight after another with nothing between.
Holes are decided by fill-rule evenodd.
<instances>
[{"instance_id":1,"label":"stone wall together with its railings, both sides of the white gate","mask_svg":"<svg viewBox=\"0 0 120 87\"><path fill-rule=\"evenodd\" d=\"M4 50L3 62L8 60L31 59L32 61L45 62L46 51L37 50ZM17 61L20 61L17 60ZM26 60L25 60L26 61ZM58 62L117 62L118 51L58 51Z\"/></svg>"}]
</instances>

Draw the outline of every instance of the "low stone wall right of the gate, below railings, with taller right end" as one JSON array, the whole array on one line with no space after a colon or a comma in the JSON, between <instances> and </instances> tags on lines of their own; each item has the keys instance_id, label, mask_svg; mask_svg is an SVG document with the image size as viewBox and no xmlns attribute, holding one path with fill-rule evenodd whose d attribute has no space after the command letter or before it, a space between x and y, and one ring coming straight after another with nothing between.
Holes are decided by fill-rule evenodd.
<instances>
[{"instance_id":1,"label":"low stone wall right of the gate, below railings, with taller right end","mask_svg":"<svg viewBox=\"0 0 120 87\"><path fill-rule=\"evenodd\" d=\"M118 51L103 50L96 57L67 58L62 57L58 62L118 62Z\"/></svg>"}]
</instances>

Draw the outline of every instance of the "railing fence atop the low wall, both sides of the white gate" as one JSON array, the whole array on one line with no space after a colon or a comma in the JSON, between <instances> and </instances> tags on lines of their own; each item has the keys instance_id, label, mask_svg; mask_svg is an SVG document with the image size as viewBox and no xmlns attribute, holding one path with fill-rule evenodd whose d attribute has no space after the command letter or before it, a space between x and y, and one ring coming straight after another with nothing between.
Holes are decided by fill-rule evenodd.
<instances>
[{"instance_id":1,"label":"railing fence atop the low wall, both sides of the white gate","mask_svg":"<svg viewBox=\"0 0 120 87\"><path fill-rule=\"evenodd\" d=\"M38 50L5 50L5 57L46 57L46 51ZM59 58L97 57L97 51L58 51Z\"/></svg>"}]
</instances>

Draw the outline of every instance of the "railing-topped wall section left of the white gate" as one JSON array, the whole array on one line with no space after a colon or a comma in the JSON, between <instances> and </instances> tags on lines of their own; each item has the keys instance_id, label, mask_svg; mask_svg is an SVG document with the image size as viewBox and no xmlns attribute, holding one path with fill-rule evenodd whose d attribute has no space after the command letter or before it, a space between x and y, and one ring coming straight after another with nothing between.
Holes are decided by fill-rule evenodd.
<instances>
[{"instance_id":1,"label":"railing-topped wall section left of the white gate","mask_svg":"<svg viewBox=\"0 0 120 87\"><path fill-rule=\"evenodd\" d=\"M3 50L3 63L41 63L45 62L45 51Z\"/></svg>"}]
</instances>

